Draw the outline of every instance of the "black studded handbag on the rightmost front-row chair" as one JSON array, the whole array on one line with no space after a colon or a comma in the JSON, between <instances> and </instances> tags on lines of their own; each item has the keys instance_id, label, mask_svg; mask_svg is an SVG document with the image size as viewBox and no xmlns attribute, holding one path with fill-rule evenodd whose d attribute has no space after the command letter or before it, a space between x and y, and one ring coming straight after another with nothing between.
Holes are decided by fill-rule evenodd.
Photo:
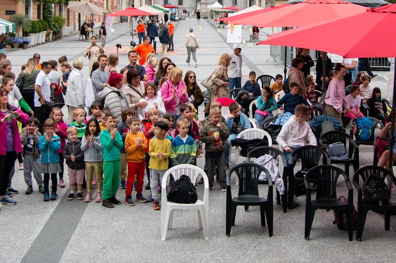
<instances>
[{"instance_id":1,"label":"black studded handbag on the rightmost front-row chair","mask_svg":"<svg viewBox=\"0 0 396 263\"><path fill-rule=\"evenodd\" d=\"M391 199L391 194L384 180L377 175L370 175L363 183L363 201L382 205Z\"/></svg>"}]
</instances>

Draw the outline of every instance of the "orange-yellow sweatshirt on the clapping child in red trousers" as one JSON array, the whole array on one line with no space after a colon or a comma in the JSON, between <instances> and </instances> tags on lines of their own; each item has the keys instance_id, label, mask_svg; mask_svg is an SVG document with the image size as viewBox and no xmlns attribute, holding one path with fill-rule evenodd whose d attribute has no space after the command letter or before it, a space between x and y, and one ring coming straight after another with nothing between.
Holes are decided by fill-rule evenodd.
<instances>
[{"instance_id":1,"label":"orange-yellow sweatshirt on the clapping child in red trousers","mask_svg":"<svg viewBox=\"0 0 396 263\"><path fill-rule=\"evenodd\" d=\"M136 139L142 139L142 144L140 146L136 145ZM127 152L128 162L141 163L145 160L147 149L147 139L142 132L137 132L133 134L128 132L125 137L125 151Z\"/></svg>"}]
</instances>

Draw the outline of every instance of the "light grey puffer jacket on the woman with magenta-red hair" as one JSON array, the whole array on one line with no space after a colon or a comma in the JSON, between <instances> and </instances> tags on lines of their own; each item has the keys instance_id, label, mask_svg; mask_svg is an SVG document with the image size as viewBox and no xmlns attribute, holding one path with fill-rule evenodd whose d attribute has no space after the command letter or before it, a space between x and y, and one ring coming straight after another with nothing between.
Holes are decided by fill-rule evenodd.
<instances>
[{"instance_id":1,"label":"light grey puffer jacket on the woman with magenta-red hair","mask_svg":"<svg viewBox=\"0 0 396 263\"><path fill-rule=\"evenodd\" d=\"M129 108L129 103L124 92L120 89L107 86L107 88L103 88L99 92L98 99L100 101L104 99L103 109L108 109L115 116L116 125L119 125L122 121L121 113Z\"/></svg>"}]
</instances>

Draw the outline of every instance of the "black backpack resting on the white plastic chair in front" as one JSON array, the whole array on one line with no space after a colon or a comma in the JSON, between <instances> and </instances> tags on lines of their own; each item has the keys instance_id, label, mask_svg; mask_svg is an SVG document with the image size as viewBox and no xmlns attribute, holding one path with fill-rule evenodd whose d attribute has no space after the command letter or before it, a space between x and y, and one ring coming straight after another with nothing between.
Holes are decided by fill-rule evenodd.
<instances>
[{"instance_id":1,"label":"black backpack resting on the white plastic chair in front","mask_svg":"<svg viewBox=\"0 0 396 263\"><path fill-rule=\"evenodd\" d=\"M187 175L180 176L168 193L168 201L179 204L195 204L198 200L197 190Z\"/></svg>"}]
</instances>

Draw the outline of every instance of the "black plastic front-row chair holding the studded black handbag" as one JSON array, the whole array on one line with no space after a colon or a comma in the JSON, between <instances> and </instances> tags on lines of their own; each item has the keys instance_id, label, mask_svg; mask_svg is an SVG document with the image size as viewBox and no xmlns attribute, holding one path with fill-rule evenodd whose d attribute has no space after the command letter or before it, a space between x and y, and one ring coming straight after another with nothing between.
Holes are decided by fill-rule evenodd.
<instances>
[{"instance_id":1,"label":"black plastic front-row chair holding the studded black handbag","mask_svg":"<svg viewBox=\"0 0 396 263\"><path fill-rule=\"evenodd\" d=\"M391 211L396 211L396 203L395 202L385 202L382 205L373 205L370 203L366 203L363 201L363 191L360 185L363 185L363 182L370 175L378 175L384 181L385 178L388 177L388 180L393 182L393 185L396 186L396 177L389 170L379 167L379 166L365 166L360 168L353 175L353 185L357 189L357 225L356 225L356 240L362 241L363 228L366 222L367 212L370 210L375 212L384 213L385 215L385 230L390 229L391 223ZM362 180L359 183L359 178Z\"/></svg>"}]
</instances>

